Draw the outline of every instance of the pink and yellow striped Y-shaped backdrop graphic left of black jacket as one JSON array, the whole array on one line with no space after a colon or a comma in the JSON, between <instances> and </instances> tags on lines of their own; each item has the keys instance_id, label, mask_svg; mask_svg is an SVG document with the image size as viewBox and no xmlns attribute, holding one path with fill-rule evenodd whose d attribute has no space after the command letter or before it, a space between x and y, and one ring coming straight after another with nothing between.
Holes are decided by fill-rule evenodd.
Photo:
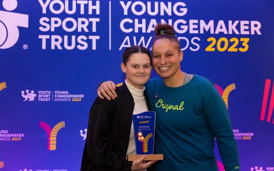
<instances>
[{"instance_id":1,"label":"pink and yellow striped Y-shaped backdrop graphic left of black jacket","mask_svg":"<svg viewBox=\"0 0 274 171\"><path fill-rule=\"evenodd\" d=\"M57 133L60 129L65 127L65 122L59 122L53 127L53 129L51 129L47 123L40 121L39 127L43 128L48 135L48 150L56 150Z\"/></svg>"}]
</instances>

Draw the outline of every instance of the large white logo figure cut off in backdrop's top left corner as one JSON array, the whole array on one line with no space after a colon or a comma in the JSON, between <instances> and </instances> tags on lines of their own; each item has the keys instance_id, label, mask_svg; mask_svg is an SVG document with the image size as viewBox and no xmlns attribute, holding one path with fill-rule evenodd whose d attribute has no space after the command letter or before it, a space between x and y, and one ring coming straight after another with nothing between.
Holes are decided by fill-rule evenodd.
<instances>
[{"instance_id":1,"label":"large white logo figure cut off in backdrop's top left corner","mask_svg":"<svg viewBox=\"0 0 274 171\"><path fill-rule=\"evenodd\" d=\"M17 0L4 0L2 4L7 11L0 11L0 49L7 49L18 41L18 27L29 27L29 16L8 12L17 8Z\"/></svg>"}]
</instances>

